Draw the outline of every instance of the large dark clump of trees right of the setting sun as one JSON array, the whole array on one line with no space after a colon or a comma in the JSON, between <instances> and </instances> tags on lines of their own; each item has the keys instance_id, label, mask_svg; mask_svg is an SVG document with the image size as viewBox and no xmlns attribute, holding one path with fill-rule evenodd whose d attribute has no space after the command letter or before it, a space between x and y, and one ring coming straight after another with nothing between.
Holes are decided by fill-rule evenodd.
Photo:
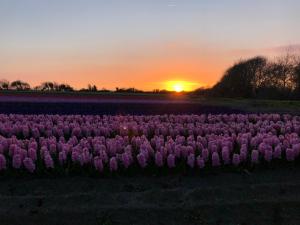
<instances>
[{"instance_id":1,"label":"large dark clump of trees right of the setting sun","mask_svg":"<svg viewBox=\"0 0 300 225\"><path fill-rule=\"evenodd\" d=\"M275 60L263 56L240 60L212 88L195 92L214 97L299 99L300 57L286 54Z\"/></svg>"}]
</instances>

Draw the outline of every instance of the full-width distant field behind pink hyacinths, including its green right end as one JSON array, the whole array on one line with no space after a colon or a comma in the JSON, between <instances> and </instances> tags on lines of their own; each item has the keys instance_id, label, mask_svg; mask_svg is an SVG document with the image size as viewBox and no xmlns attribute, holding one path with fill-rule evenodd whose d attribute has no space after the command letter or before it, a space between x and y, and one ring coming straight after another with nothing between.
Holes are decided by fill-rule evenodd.
<instances>
[{"instance_id":1,"label":"full-width distant field behind pink hyacinths, including its green right end","mask_svg":"<svg viewBox=\"0 0 300 225\"><path fill-rule=\"evenodd\" d=\"M188 94L0 92L2 113L300 113L300 101L204 98Z\"/></svg>"}]
</instances>

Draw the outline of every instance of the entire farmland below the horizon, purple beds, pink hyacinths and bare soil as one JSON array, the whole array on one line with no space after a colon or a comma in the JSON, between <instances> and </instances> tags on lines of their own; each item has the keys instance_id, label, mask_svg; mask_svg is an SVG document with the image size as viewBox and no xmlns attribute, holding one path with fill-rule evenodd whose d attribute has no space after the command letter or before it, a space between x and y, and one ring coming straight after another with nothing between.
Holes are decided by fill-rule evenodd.
<instances>
[{"instance_id":1,"label":"entire farmland below the horizon, purple beds, pink hyacinths and bare soil","mask_svg":"<svg viewBox=\"0 0 300 225\"><path fill-rule=\"evenodd\" d=\"M299 223L298 102L0 101L3 224Z\"/></svg>"}]
</instances>

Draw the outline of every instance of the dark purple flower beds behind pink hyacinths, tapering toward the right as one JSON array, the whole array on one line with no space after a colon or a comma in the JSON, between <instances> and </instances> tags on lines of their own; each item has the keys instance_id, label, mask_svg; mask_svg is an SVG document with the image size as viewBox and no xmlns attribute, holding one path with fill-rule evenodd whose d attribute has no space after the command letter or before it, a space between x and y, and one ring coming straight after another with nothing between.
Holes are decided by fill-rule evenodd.
<instances>
[{"instance_id":1,"label":"dark purple flower beds behind pink hyacinths, tapering toward the right","mask_svg":"<svg viewBox=\"0 0 300 225\"><path fill-rule=\"evenodd\" d=\"M237 113L203 105L183 94L2 93L0 112L20 114L198 114Z\"/></svg>"}]
</instances>

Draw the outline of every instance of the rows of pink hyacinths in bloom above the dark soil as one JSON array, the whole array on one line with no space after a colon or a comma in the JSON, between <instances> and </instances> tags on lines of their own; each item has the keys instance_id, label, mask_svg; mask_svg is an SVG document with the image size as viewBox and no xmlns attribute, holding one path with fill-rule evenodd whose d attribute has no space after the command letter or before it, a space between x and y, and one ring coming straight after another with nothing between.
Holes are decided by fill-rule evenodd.
<instances>
[{"instance_id":1,"label":"rows of pink hyacinths in bloom above the dark soil","mask_svg":"<svg viewBox=\"0 0 300 225\"><path fill-rule=\"evenodd\" d=\"M293 163L299 134L300 117L288 114L2 114L0 172L109 174Z\"/></svg>"}]
</instances>

